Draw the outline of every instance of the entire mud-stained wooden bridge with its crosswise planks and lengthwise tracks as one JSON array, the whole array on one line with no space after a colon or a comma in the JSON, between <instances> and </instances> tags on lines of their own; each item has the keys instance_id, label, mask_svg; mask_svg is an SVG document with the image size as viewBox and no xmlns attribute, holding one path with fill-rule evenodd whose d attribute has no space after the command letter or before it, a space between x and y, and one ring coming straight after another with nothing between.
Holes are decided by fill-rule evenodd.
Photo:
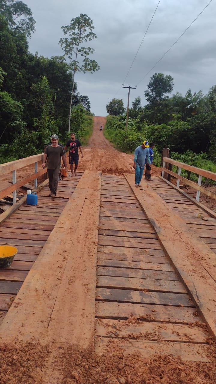
<instances>
[{"instance_id":1,"label":"entire mud-stained wooden bridge with its crosswise planks and lengthwise tracks","mask_svg":"<svg viewBox=\"0 0 216 384\"><path fill-rule=\"evenodd\" d=\"M163 177L141 185L131 174L78 172L59 182L55 200L46 180L37 206L23 198L0 216L0 245L18 248L0 270L2 341L209 361L216 215Z\"/></svg>"}]
</instances>

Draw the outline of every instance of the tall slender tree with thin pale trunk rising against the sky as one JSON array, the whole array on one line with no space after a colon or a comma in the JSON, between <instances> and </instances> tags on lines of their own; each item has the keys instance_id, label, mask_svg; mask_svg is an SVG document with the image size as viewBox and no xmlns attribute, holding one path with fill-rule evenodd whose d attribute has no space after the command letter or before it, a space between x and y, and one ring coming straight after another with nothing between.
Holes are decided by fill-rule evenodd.
<instances>
[{"instance_id":1,"label":"tall slender tree with thin pale trunk rising against the sky","mask_svg":"<svg viewBox=\"0 0 216 384\"><path fill-rule=\"evenodd\" d=\"M94 49L90 47L81 46L83 42L91 41L97 38L93 30L93 21L85 14L80 13L80 16L73 18L70 25L61 27L64 35L68 35L66 38L61 38L59 44L65 52L66 57L70 60L70 67L73 71L73 84L71 91L70 112L69 112L69 124L68 132L70 132L70 120L71 120L71 106L73 100L74 78L76 72L90 72L100 70L100 66L95 60L91 60L88 56L93 54ZM75 59L73 60L73 55ZM78 61L81 57L81 63Z\"/></svg>"}]
</instances>

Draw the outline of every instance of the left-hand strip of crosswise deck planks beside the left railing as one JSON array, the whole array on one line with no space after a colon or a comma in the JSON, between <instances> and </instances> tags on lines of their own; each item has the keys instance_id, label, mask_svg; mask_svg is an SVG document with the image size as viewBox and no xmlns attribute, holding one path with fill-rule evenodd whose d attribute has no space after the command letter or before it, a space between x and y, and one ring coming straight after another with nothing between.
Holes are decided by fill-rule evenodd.
<instances>
[{"instance_id":1,"label":"left-hand strip of crosswise deck planks beside the left railing","mask_svg":"<svg viewBox=\"0 0 216 384\"><path fill-rule=\"evenodd\" d=\"M0 323L37 260L56 221L73 194L83 172L58 182L55 200L46 185L38 193L38 204L23 204L0 225L0 245L14 245L18 252L12 265L0 270ZM69 173L70 175L70 173Z\"/></svg>"}]
</instances>

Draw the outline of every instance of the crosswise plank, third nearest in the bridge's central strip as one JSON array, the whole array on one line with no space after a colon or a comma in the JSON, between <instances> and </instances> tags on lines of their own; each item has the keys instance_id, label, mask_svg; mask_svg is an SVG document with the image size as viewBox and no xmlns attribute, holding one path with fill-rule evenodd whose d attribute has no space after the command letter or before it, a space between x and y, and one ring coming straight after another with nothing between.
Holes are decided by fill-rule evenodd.
<instances>
[{"instance_id":1,"label":"crosswise plank, third nearest in the bridge's central strip","mask_svg":"<svg viewBox=\"0 0 216 384\"><path fill-rule=\"evenodd\" d=\"M103 303L102 301L95 302L95 316L96 318L123 320L135 316L141 320L175 322L179 324L195 323L197 321L197 316L194 315L194 308L153 304Z\"/></svg>"}]
</instances>

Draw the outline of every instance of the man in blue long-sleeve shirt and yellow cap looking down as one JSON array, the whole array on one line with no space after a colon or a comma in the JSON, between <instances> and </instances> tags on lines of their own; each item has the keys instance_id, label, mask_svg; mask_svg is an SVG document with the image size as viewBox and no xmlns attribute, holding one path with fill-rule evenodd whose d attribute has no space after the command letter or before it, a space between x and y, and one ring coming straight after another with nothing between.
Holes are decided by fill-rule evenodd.
<instances>
[{"instance_id":1,"label":"man in blue long-sleeve shirt and yellow cap looking down","mask_svg":"<svg viewBox=\"0 0 216 384\"><path fill-rule=\"evenodd\" d=\"M136 147L134 152L133 167L135 169L135 187L140 187L141 178L146 164L151 164L148 141Z\"/></svg>"}]
</instances>

